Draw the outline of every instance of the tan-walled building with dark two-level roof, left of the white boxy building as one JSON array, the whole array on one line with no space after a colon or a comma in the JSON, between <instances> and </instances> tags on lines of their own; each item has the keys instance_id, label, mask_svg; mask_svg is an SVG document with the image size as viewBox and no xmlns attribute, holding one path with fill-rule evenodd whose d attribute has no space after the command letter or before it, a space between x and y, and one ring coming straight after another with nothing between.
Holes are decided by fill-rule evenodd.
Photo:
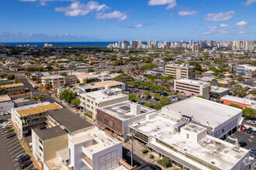
<instances>
[{"instance_id":1,"label":"tan-walled building with dark two-level roof, left of the white boxy building","mask_svg":"<svg viewBox=\"0 0 256 170\"><path fill-rule=\"evenodd\" d=\"M64 154L62 149L68 146L68 133L92 126L67 108L48 110L45 117L47 128L32 130L33 156L42 169L47 169L45 163L56 158L57 152ZM68 155L63 159L64 165L68 165Z\"/></svg>"}]
</instances>

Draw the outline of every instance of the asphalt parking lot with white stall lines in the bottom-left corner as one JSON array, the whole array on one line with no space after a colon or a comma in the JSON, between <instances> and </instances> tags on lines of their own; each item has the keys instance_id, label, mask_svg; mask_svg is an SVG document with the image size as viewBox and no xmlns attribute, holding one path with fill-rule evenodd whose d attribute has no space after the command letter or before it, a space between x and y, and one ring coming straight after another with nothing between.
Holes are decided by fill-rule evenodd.
<instances>
[{"instance_id":1,"label":"asphalt parking lot with white stall lines in the bottom-left corner","mask_svg":"<svg viewBox=\"0 0 256 170\"><path fill-rule=\"evenodd\" d=\"M1 116L0 119L9 119L10 116ZM10 132L11 133L11 132ZM12 133L14 133L12 131ZM22 145L19 144L19 139L17 136L14 136L12 138L6 138L8 133L5 133L5 131L2 129L0 130L0 160L1 170L18 170L19 168L19 162L15 161L15 158L17 155L25 152L22 148ZM29 165L25 169L33 168L33 165Z\"/></svg>"}]
</instances>

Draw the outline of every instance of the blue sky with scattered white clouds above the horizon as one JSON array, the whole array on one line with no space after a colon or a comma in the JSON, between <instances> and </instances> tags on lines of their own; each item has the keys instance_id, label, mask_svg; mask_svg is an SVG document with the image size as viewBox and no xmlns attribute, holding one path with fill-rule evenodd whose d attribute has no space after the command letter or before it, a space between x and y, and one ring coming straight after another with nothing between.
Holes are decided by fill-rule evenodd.
<instances>
[{"instance_id":1,"label":"blue sky with scattered white clouds above the horizon","mask_svg":"<svg viewBox=\"0 0 256 170\"><path fill-rule=\"evenodd\" d=\"M0 0L0 42L256 39L256 0Z\"/></svg>"}]
</instances>

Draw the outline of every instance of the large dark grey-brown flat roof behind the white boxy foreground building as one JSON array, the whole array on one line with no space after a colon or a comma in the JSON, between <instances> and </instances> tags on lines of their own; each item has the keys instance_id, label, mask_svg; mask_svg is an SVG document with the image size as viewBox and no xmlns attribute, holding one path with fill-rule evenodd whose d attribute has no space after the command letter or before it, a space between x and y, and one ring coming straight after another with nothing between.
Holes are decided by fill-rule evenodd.
<instances>
[{"instance_id":1,"label":"large dark grey-brown flat roof behind the white boxy foreground building","mask_svg":"<svg viewBox=\"0 0 256 170\"><path fill-rule=\"evenodd\" d=\"M77 114L71 112L67 108L59 109L59 110L49 110L47 114L50 117L53 117L55 121L59 124L63 125L67 131L73 132L78 131L82 128L88 128L92 126L88 121L79 117Z\"/></svg>"}]
</instances>

